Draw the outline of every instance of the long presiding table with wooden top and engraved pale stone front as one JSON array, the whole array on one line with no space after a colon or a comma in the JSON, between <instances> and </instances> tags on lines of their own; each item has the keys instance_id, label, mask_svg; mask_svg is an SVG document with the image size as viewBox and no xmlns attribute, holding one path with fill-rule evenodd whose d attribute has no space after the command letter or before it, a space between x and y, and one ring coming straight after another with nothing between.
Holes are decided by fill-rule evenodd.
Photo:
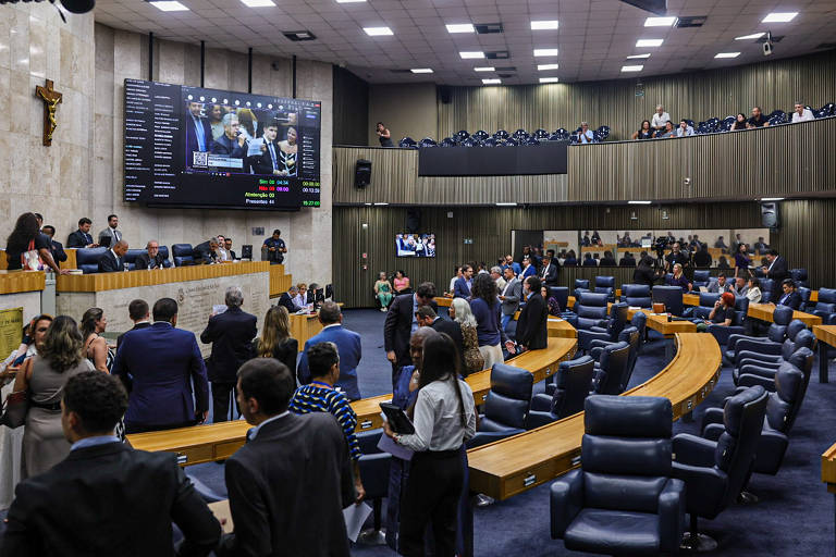
<instances>
[{"instance_id":1,"label":"long presiding table with wooden top and engraved pale stone front","mask_svg":"<svg viewBox=\"0 0 836 557\"><path fill-rule=\"evenodd\" d=\"M199 335L212 313L212 306L224 304L230 286L244 293L242 309L258 318L260 327L270 307L270 263L244 261L214 265L192 265L149 271L60 275L58 277L58 313L75 318L88 308L101 308L110 332L128 331L131 300L144 299L148 306L160 298L177 302L177 329ZM198 342L204 356L211 345Z\"/></svg>"}]
</instances>

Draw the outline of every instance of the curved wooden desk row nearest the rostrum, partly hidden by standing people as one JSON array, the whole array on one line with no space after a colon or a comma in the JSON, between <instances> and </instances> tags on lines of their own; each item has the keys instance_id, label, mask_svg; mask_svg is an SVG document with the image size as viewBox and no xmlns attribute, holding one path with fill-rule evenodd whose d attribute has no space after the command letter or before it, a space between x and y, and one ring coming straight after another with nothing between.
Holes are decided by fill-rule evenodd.
<instances>
[{"instance_id":1,"label":"curved wooden desk row nearest the rostrum, partly hidden by standing people","mask_svg":"<svg viewBox=\"0 0 836 557\"><path fill-rule=\"evenodd\" d=\"M561 361L575 356L576 347L575 338L550 337L546 349L524 352L507 360L506 363L530 371L537 383L553 375ZM476 404L482 404L491 388L491 371L471 373L466 381L474 391ZM380 403L391 399L392 395L389 394L352 403L352 408L357 413L357 431L380 428L382 424ZM176 453L180 463L188 466L229 458L244 444L249 428L246 421L234 420L176 430L136 433L128 435L127 441L131 446L142 450Z\"/></svg>"}]
</instances>

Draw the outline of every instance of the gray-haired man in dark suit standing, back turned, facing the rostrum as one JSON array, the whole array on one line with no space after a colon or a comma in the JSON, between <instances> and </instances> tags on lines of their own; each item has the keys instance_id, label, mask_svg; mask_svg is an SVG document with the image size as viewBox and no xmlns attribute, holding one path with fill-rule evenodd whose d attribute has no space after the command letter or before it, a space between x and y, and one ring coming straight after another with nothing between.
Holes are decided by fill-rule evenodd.
<instances>
[{"instance_id":1,"label":"gray-haired man in dark suit standing, back turned, facing the rostrum","mask_svg":"<svg viewBox=\"0 0 836 557\"><path fill-rule=\"evenodd\" d=\"M230 394L235 389L235 374L241 364L251 356L253 338L256 337L256 315L241 309L244 294L237 286L226 288L226 311L209 318L209 324L200 333L200 342L212 343L209 356L209 381L212 382L212 416L214 422L230 420ZM234 398L234 397L232 397ZM232 419L235 412L232 411Z\"/></svg>"}]
</instances>

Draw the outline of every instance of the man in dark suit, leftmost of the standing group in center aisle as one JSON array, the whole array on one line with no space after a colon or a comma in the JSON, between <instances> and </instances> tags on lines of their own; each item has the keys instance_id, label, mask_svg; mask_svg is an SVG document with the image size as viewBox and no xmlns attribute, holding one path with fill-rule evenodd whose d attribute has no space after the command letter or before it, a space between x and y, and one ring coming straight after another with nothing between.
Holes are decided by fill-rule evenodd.
<instances>
[{"instance_id":1,"label":"man in dark suit, leftmost of the standing group in center aisle","mask_svg":"<svg viewBox=\"0 0 836 557\"><path fill-rule=\"evenodd\" d=\"M383 347L386 350L386 359L392 362L392 377L403 366L409 366L409 337L418 329L416 312L420 306L430 306L438 312L435 304L435 285L421 283L414 294L395 296L386 312L386 321L383 325Z\"/></svg>"}]
</instances>

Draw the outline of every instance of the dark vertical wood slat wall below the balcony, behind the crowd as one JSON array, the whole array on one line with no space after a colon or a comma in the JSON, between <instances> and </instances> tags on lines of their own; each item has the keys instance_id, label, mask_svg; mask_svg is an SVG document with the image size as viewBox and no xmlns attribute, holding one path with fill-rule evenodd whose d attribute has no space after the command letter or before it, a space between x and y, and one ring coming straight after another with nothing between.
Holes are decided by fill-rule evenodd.
<instances>
[{"instance_id":1,"label":"dark vertical wood slat wall below the balcony, behind the crowd","mask_svg":"<svg viewBox=\"0 0 836 557\"><path fill-rule=\"evenodd\" d=\"M662 218L662 210L668 219ZM453 268L468 261L492 264L511 252L513 230L648 231L657 228L758 228L757 202L679 203L663 207L534 207L534 208L421 208L421 232L434 233L438 257L395 257L395 234L404 232L406 209L395 207L334 207L334 288L347 307L371 307L372 285L378 272L401 269L415 284L432 281L440 292L447 289ZM637 220L630 219L636 211ZM447 213L452 216L447 216ZM791 268L808 269L814 288L836 287L836 258L832 255L828 223L836 222L836 199L787 200L779 203L780 227L771 234L771 244ZM472 244L465 244L472 238ZM366 253L368 259L361 256ZM362 270L366 264L368 270ZM561 282L615 275L618 284L629 282L631 270L565 269Z\"/></svg>"}]
</instances>

